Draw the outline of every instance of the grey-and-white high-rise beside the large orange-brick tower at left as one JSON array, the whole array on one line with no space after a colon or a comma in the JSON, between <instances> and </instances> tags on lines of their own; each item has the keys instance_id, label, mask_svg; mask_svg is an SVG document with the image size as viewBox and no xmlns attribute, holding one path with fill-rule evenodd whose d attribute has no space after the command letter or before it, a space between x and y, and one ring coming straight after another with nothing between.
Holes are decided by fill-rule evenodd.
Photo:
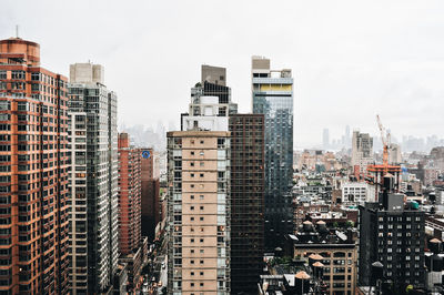
<instances>
[{"instance_id":1,"label":"grey-and-white high-rise beside the large orange-brick tower at left","mask_svg":"<svg viewBox=\"0 0 444 295\"><path fill-rule=\"evenodd\" d=\"M70 67L71 292L112 288L118 269L117 95L101 65Z\"/></svg>"}]
</instances>

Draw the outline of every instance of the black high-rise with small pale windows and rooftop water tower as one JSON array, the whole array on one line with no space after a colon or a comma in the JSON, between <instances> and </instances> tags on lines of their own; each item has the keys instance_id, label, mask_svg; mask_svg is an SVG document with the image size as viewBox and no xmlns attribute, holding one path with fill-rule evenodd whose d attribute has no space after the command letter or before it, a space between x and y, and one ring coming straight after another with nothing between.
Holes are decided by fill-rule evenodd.
<instances>
[{"instance_id":1,"label":"black high-rise with small pale windows and rooftop water tower","mask_svg":"<svg viewBox=\"0 0 444 295\"><path fill-rule=\"evenodd\" d=\"M360 284L375 285L372 264L379 262L383 279L395 289L408 284L424 287L425 212L417 203L404 202L393 175L383 180L380 201L360 206Z\"/></svg>"}]
</instances>

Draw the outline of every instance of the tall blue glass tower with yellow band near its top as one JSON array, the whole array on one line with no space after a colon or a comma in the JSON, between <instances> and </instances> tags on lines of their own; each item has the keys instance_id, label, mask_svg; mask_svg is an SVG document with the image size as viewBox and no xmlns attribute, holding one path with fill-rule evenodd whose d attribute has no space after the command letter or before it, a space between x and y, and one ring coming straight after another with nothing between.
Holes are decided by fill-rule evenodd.
<instances>
[{"instance_id":1,"label":"tall blue glass tower with yellow band near its top","mask_svg":"<svg viewBox=\"0 0 444 295\"><path fill-rule=\"evenodd\" d=\"M265 250L282 246L293 232L293 78L252 58L253 113L265 116Z\"/></svg>"}]
</instances>

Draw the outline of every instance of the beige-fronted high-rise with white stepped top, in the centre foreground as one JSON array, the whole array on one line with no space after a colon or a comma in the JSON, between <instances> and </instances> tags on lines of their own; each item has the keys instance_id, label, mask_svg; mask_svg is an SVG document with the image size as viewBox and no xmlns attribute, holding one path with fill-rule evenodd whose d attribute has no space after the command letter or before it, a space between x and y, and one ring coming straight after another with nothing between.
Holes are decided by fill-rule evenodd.
<instances>
[{"instance_id":1,"label":"beige-fronted high-rise with white stepped top, in the centre foreground","mask_svg":"<svg viewBox=\"0 0 444 295\"><path fill-rule=\"evenodd\" d=\"M229 88L206 80L191 93L190 113L181 116L182 131L167 134L168 288L170 294L230 294L228 115L236 105Z\"/></svg>"}]
</instances>

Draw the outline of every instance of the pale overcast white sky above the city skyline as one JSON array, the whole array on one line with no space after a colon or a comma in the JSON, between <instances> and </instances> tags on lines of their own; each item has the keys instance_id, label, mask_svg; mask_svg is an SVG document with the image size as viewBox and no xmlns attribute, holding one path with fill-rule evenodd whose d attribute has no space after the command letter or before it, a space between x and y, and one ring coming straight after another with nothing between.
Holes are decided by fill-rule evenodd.
<instances>
[{"instance_id":1,"label":"pale overcast white sky above the city skyline","mask_svg":"<svg viewBox=\"0 0 444 295\"><path fill-rule=\"evenodd\" d=\"M251 112L251 57L292 69L294 145L351 130L444 138L444 1L2 0L0 39L41 47L69 75L99 63L118 93L119 125L180 126L201 64L224 67L232 100Z\"/></svg>"}]
</instances>

